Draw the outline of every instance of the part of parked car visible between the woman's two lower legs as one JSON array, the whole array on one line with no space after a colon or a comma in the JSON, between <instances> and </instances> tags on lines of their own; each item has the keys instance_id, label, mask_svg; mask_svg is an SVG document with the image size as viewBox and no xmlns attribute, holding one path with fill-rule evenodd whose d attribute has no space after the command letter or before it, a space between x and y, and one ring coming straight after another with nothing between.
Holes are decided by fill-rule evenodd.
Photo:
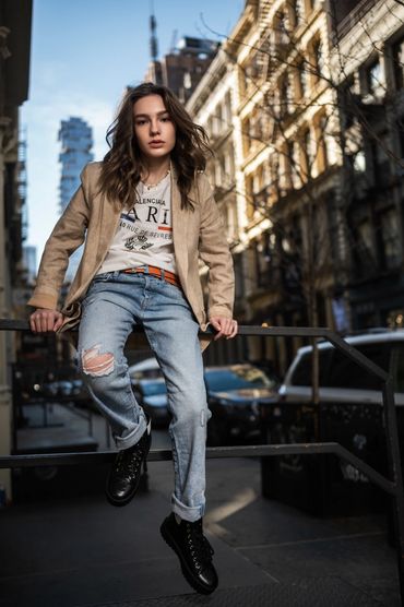
<instances>
[{"instance_id":1,"label":"part of parked car visible between the woman's two lower legs","mask_svg":"<svg viewBox=\"0 0 404 607\"><path fill-rule=\"evenodd\" d=\"M164 378L141 379L132 385L139 404L151 416L153 426L168 426L170 416Z\"/></svg>"}]
</instances>

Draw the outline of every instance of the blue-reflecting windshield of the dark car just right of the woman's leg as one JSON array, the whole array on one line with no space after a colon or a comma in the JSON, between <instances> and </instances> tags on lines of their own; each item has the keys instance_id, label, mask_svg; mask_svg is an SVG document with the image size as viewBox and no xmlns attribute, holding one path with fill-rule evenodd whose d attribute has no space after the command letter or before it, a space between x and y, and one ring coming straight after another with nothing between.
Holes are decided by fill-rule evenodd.
<instances>
[{"instance_id":1,"label":"blue-reflecting windshield of the dark car just right of the woman's leg","mask_svg":"<svg viewBox=\"0 0 404 607\"><path fill-rule=\"evenodd\" d=\"M246 388L274 388L263 371L257 367L234 366L227 369L209 369L205 371L207 390L226 392Z\"/></svg>"}]
</instances>

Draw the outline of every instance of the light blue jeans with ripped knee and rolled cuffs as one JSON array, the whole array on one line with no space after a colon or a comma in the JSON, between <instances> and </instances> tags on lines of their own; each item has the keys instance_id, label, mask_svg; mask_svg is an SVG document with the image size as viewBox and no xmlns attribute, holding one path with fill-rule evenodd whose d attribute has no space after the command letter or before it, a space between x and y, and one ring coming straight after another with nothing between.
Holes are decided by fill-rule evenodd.
<instances>
[{"instance_id":1,"label":"light blue jeans with ripped knee and rolled cuffs","mask_svg":"<svg viewBox=\"0 0 404 607\"><path fill-rule=\"evenodd\" d=\"M108 419L118 449L146 429L131 389L123 347L133 325L144 328L164 373L171 414L175 489L173 511L197 521L205 509L206 404L199 324L178 287L148 274L96 276L82 302L78 368Z\"/></svg>"}]
</instances>

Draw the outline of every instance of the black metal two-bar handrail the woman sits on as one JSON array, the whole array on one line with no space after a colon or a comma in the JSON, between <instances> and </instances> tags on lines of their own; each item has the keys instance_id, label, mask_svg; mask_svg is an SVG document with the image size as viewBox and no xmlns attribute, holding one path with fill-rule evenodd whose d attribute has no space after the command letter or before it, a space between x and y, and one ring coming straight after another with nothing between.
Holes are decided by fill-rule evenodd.
<instances>
[{"instance_id":1,"label":"black metal two-bar handrail the woman sits on","mask_svg":"<svg viewBox=\"0 0 404 607\"><path fill-rule=\"evenodd\" d=\"M31 331L28 321L0 319L0 331ZM141 331L138 329L136 331ZM214 333L207 330L206 334ZM261 337L317 337L324 338L332 343L337 349L342 350L348 358L357 362L378 377L383 382L382 398L385 427L387 452L389 462L389 475L387 478L369 466L366 462L350 453L337 442L320 443L297 443L297 444L262 444L248 447L217 447L206 449L206 457L240 457L240 456L280 456L286 454L324 454L333 453L340 459L347 461L364 473L372 483L387 491L394 500L394 532L395 547L400 578L400 592L402 604L404 605L404 491L401 468L397 421L395 413L393 379L391 374L381 367L369 360L354 346L347 344L340 335L328 328L306 328L306 326L249 326L242 325L238 330L239 335L261 336ZM0 456L1 468L21 468L29 466L54 466L72 464L103 464L114 460L111 452L91 452L91 453L51 453L32 455L3 455ZM148 461L164 461L171 459L169 450L151 450Z\"/></svg>"}]
</instances>

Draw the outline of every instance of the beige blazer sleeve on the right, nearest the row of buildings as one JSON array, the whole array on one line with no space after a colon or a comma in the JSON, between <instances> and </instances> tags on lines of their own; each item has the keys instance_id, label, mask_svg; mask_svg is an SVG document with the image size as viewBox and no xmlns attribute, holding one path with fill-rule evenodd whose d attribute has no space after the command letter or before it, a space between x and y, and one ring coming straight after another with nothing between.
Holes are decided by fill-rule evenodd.
<instances>
[{"instance_id":1,"label":"beige blazer sleeve on the right, nearest the row of buildings","mask_svg":"<svg viewBox=\"0 0 404 607\"><path fill-rule=\"evenodd\" d=\"M200 178L201 228L199 254L209 266L207 318L233 318L235 275L233 258L226 240L226 229L211 185Z\"/></svg>"}]
</instances>

